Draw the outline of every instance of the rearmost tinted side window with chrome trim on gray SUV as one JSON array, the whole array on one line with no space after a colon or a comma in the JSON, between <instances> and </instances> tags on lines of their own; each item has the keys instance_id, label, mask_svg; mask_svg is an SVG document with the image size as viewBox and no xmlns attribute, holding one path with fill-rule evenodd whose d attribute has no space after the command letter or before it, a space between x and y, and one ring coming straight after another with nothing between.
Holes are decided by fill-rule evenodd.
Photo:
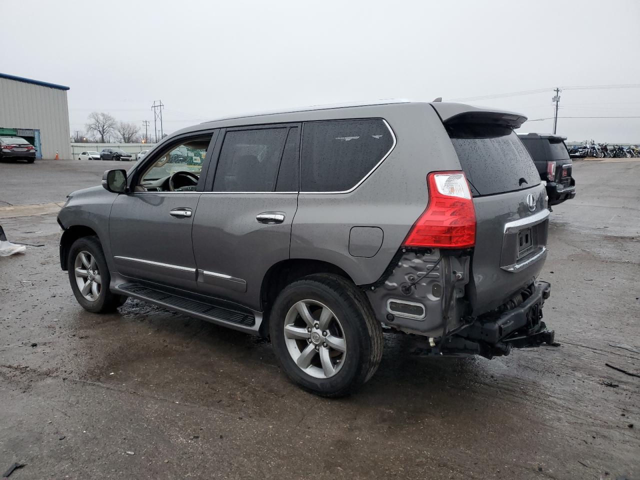
<instances>
[{"instance_id":1,"label":"rearmost tinted side window with chrome trim on gray SUV","mask_svg":"<svg viewBox=\"0 0 640 480\"><path fill-rule=\"evenodd\" d=\"M302 138L302 191L353 188L393 145L382 120L335 120L305 124Z\"/></svg>"}]
</instances>

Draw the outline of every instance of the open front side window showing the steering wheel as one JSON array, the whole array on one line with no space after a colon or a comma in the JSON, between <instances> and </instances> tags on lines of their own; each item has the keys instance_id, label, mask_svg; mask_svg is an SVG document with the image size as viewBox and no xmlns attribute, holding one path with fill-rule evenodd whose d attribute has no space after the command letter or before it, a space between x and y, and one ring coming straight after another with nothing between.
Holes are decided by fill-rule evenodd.
<instances>
[{"instance_id":1,"label":"open front side window showing the steering wheel","mask_svg":"<svg viewBox=\"0 0 640 480\"><path fill-rule=\"evenodd\" d=\"M211 135L189 138L179 144L173 144L159 155L148 166L140 179L141 186L152 187L154 191L192 191L198 183L202 164L207 156L207 148L211 142ZM176 172L186 172L177 175L169 185L168 177Z\"/></svg>"}]
</instances>

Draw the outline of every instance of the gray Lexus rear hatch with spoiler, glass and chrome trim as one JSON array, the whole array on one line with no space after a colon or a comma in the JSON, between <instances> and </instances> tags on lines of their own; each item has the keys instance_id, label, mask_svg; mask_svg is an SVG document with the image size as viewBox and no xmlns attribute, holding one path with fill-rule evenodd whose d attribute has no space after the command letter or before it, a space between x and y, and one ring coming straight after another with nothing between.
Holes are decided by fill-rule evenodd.
<instances>
[{"instance_id":1,"label":"gray Lexus rear hatch with spoiler, glass and chrome trim","mask_svg":"<svg viewBox=\"0 0 640 480\"><path fill-rule=\"evenodd\" d=\"M444 122L476 209L476 245L467 286L474 316L505 303L530 285L546 257L547 193L522 141L513 132L524 117L468 111Z\"/></svg>"}]
</instances>

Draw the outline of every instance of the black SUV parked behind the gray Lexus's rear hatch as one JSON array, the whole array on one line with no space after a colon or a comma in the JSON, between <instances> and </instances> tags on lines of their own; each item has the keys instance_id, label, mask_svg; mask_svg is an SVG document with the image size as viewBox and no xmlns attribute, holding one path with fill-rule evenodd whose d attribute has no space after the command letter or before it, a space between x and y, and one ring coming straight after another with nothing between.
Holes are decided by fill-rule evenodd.
<instances>
[{"instance_id":1,"label":"black SUV parked behind the gray Lexus's rear hatch","mask_svg":"<svg viewBox=\"0 0 640 480\"><path fill-rule=\"evenodd\" d=\"M539 133L519 133L518 136L529 150L540 178L547 180L549 205L575 197L573 162L564 143L566 137Z\"/></svg>"}]
</instances>

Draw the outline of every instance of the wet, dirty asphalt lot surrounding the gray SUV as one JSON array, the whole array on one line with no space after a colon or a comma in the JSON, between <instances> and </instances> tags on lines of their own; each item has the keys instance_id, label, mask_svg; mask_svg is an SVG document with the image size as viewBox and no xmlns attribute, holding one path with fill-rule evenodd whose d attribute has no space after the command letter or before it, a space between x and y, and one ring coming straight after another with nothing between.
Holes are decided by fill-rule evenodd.
<instances>
[{"instance_id":1,"label":"wet, dirty asphalt lot surrounding the gray SUV","mask_svg":"<svg viewBox=\"0 0 640 480\"><path fill-rule=\"evenodd\" d=\"M640 374L640 161L574 165L578 195L554 208L541 275L561 346L416 358L390 336L376 376L339 400L292 385L268 342L248 335L140 301L85 312L58 264L55 215L0 217L10 239L44 245L0 258L0 470L26 463L12 480L639 479L640 378L605 364ZM0 201L64 200L107 167L0 164Z\"/></svg>"}]
</instances>

